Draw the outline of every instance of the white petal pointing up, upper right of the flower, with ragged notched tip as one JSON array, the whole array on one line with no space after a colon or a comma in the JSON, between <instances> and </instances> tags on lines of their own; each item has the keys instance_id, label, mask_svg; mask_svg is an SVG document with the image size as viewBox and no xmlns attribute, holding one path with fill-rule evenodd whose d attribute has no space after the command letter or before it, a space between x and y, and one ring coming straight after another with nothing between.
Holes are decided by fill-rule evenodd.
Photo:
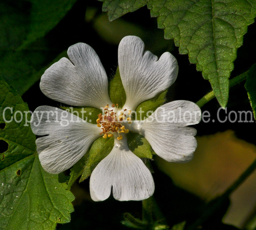
<instances>
[{"instance_id":1,"label":"white petal pointing up, upper right of the flower, with ragged notched tip","mask_svg":"<svg viewBox=\"0 0 256 230\"><path fill-rule=\"evenodd\" d=\"M169 88L178 74L177 61L169 52L159 60L150 51L143 52L144 43L136 36L124 37L118 47L118 66L126 93L124 108L130 110Z\"/></svg>"}]
</instances>

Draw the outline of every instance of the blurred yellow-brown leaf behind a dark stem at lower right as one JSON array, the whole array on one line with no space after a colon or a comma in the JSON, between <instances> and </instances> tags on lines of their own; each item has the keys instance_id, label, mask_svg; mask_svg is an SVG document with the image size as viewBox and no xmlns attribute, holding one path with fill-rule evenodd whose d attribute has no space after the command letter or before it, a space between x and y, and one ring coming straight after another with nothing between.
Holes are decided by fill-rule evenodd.
<instances>
[{"instance_id":1,"label":"blurred yellow-brown leaf behind a dark stem at lower right","mask_svg":"<svg viewBox=\"0 0 256 230\"><path fill-rule=\"evenodd\" d=\"M231 130L197 137L197 143L195 156L189 163L168 163L159 157L155 162L178 187L206 200L221 195L256 158L255 145L238 139ZM255 208L255 188L256 173L231 195L226 223L242 227Z\"/></svg>"}]
</instances>

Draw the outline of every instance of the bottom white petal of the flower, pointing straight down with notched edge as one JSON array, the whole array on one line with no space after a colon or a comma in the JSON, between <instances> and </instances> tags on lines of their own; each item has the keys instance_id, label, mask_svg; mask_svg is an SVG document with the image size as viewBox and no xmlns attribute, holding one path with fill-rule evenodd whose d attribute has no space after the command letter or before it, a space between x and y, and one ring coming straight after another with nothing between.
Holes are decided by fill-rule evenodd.
<instances>
[{"instance_id":1,"label":"bottom white petal of the flower, pointing straight down with notched edge","mask_svg":"<svg viewBox=\"0 0 256 230\"><path fill-rule=\"evenodd\" d=\"M94 201L105 200L111 193L116 200L143 200L154 193L153 177L127 146L127 139L116 140L114 148L93 170L90 194Z\"/></svg>"}]
</instances>

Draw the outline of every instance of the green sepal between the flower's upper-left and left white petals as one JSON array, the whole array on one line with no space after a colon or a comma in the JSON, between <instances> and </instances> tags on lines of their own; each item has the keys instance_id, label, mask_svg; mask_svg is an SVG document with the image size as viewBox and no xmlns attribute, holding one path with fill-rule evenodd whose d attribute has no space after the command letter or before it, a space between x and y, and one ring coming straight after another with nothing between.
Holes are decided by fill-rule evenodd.
<instances>
[{"instance_id":1,"label":"green sepal between the flower's upper-left and left white petals","mask_svg":"<svg viewBox=\"0 0 256 230\"><path fill-rule=\"evenodd\" d=\"M93 107L65 107L60 106L61 109L68 111L69 113L75 114L76 116L82 118L83 120L91 123L97 124L98 114L102 113L101 110Z\"/></svg>"}]
</instances>

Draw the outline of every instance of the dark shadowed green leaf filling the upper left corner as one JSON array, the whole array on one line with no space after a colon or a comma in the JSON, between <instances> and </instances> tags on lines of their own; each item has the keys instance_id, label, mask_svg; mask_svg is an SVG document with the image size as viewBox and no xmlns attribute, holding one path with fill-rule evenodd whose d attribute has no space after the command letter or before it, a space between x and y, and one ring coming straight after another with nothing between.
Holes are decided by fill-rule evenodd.
<instances>
[{"instance_id":1,"label":"dark shadowed green leaf filling the upper left corner","mask_svg":"<svg viewBox=\"0 0 256 230\"><path fill-rule=\"evenodd\" d=\"M76 0L3 0L0 2L0 75L22 95L38 81L60 51L42 37ZM42 71L40 71L41 73Z\"/></svg>"}]
</instances>

